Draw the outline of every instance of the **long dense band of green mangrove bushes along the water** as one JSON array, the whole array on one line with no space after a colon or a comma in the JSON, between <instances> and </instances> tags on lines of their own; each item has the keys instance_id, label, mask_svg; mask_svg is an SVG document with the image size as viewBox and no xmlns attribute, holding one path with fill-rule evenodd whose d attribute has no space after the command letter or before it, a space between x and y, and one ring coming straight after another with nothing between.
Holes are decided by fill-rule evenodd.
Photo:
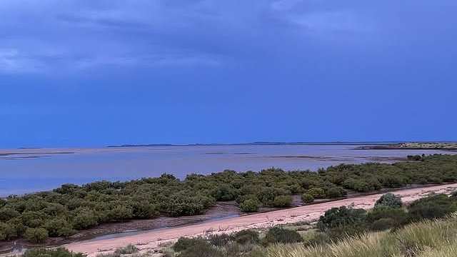
<instances>
[{"instance_id":1,"label":"long dense band of green mangrove bushes along the water","mask_svg":"<svg viewBox=\"0 0 457 257\"><path fill-rule=\"evenodd\" d=\"M411 183L457 181L457 156L411 156L411 160L418 161L342 164L318 172L277 168L258 173L224 171L209 176L191 174L182 181L163 174L128 182L65 184L54 191L1 199L0 240L24 237L40 243L100 223L160 214L191 216L204 213L216 201L237 201L242 211L257 211L261 206L290 206L292 194L301 194L304 202L311 202L344 196L347 189L365 192Z\"/></svg>"}]
</instances>

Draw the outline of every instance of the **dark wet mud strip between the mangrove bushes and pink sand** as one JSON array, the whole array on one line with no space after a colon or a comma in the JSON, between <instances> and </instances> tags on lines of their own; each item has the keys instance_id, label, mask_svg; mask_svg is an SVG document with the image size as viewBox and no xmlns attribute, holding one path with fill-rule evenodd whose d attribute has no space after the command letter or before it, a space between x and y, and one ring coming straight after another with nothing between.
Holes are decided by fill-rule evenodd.
<instances>
[{"instance_id":1,"label":"dark wet mud strip between the mangrove bushes and pink sand","mask_svg":"<svg viewBox=\"0 0 457 257\"><path fill-rule=\"evenodd\" d=\"M120 223L104 223L95 228L89 228L84 231L79 231L73 236L69 238L50 238L47 243L41 244L32 244L24 241L24 239L19 239L16 241L9 241L4 242L3 247L0 244L0 256L9 256L11 251L16 248L34 248L34 247L60 247L65 245L71 245L74 243L84 243L84 242L96 242L96 241L103 241L103 238L124 238L126 236L132 235L141 235L145 233L151 233L154 231L161 231L166 229L174 229L174 228L183 228L187 226L194 226L194 225L204 225L206 223L211 223L212 221L225 221L229 218L236 218L246 217L246 216L255 216L255 215L267 215L268 213L274 213L276 211L287 211L294 208L303 208L303 207L311 207L315 205L327 204L336 201L349 201L351 199L366 197L366 196L373 196L373 195L382 195L384 193L392 192L392 191L405 191L405 190L412 190L412 189L426 189L426 188L433 188L436 186L447 186L453 185L454 183L443 183L443 184L411 184L408 186L402 186L399 188L381 188L378 191L371 191L371 192L357 192L357 191L348 191L348 195L346 197L341 198L321 198L316 199L312 203L303 203L300 200L300 196L293 195L293 198L298 200L293 201L293 206L291 208L261 208L258 212L255 213L242 213L234 201L228 202L217 202L216 206L213 206L206 211L204 214L194 215L194 216L181 216L181 217L169 217L169 216L160 216L159 218L154 219L139 219L139 220L131 220L131 221L124 221ZM456 183L456 190L457 190L457 183ZM126 236L120 236L120 235ZM19 247L18 247L19 246Z\"/></svg>"}]
</instances>

